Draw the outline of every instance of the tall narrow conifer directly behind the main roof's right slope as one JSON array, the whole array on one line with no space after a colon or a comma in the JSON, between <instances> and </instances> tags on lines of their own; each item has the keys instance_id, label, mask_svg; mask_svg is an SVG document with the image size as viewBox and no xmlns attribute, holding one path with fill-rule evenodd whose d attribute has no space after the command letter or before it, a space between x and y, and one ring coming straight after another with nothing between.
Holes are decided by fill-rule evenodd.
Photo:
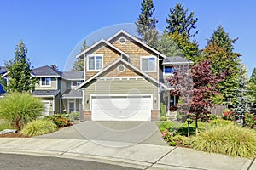
<instances>
[{"instance_id":1,"label":"tall narrow conifer directly behind the main roof's right slope","mask_svg":"<svg viewBox=\"0 0 256 170\"><path fill-rule=\"evenodd\" d=\"M158 21L153 16L155 10L153 0L143 0L141 5L141 14L139 14L137 22L135 23L138 35L143 42L152 48L156 48L158 31L156 30L155 25Z\"/></svg>"}]
</instances>

